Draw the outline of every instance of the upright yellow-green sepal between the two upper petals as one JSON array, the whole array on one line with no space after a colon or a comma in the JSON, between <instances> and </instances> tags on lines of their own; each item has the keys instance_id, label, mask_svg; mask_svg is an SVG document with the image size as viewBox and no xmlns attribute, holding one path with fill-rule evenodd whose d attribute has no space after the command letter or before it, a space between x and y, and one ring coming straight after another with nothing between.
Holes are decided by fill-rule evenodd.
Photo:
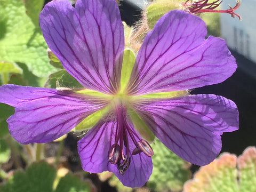
<instances>
[{"instance_id":1,"label":"upright yellow-green sepal between the two upper petals","mask_svg":"<svg viewBox=\"0 0 256 192\"><path fill-rule=\"evenodd\" d=\"M131 49L125 49L123 55L123 63L121 70L121 92L123 92L129 83L132 68L135 62L135 54Z\"/></svg>"}]
</instances>

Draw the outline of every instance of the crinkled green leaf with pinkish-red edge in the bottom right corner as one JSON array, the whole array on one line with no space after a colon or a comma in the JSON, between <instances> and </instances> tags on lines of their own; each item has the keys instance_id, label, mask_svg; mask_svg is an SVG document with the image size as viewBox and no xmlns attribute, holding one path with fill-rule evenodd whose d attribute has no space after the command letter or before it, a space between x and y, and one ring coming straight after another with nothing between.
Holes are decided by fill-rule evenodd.
<instances>
[{"instance_id":1,"label":"crinkled green leaf with pinkish-red edge in the bottom right corner","mask_svg":"<svg viewBox=\"0 0 256 192\"><path fill-rule=\"evenodd\" d=\"M202 166L185 183L184 192L255 192L256 148L248 147L238 158L223 153L209 165Z\"/></svg>"}]
</instances>

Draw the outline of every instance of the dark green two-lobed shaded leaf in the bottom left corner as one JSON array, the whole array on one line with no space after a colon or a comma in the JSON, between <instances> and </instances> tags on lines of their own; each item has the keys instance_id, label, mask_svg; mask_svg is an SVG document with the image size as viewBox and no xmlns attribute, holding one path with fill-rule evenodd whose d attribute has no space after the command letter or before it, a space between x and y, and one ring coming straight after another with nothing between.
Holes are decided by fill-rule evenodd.
<instances>
[{"instance_id":1,"label":"dark green two-lobed shaded leaf in the bottom left corner","mask_svg":"<svg viewBox=\"0 0 256 192\"><path fill-rule=\"evenodd\" d=\"M95 191L95 187L89 181L82 181L68 173L62 177L56 190L53 190L53 182L56 178L56 169L46 162L31 164L26 171L15 171L0 186L4 192L87 192Z\"/></svg>"}]
</instances>

